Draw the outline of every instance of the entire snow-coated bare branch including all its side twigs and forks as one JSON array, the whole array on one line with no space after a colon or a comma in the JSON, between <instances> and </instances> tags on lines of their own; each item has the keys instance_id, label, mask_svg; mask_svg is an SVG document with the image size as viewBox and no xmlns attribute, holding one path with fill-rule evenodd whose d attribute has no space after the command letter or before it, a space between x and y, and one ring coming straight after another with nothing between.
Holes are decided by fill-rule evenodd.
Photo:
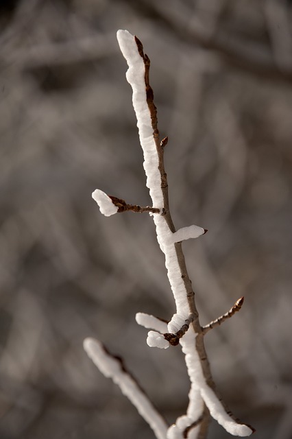
<instances>
[{"instance_id":1,"label":"entire snow-coated bare branch including all its side twigs and forks","mask_svg":"<svg viewBox=\"0 0 292 439\"><path fill-rule=\"evenodd\" d=\"M210 419L209 414L230 434L250 436L253 432L252 428L234 420L230 416L230 412L226 412L221 404L215 392L204 347L204 333L208 331L208 328L214 327L232 316L235 311L240 309L239 305L241 306L241 304L236 302L235 307L221 318L211 322L208 328L201 327L195 305L195 293L188 277L182 252L182 241L204 235L206 230L199 226L188 226L180 228L178 231L175 230L169 211L167 174L163 161L167 138L160 142L154 95L149 84L150 61L148 56L144 54L143 45L138 38L125 30L119 30L117 39L129 66L126 78L133 90L132 99L144 155L143 166L147 178L146 185L149 188L153 207L132 206L119 198L108 197L98 189L93 193L93 198L99 204L99 209L104 215L110 216L117 211L148 211L154 219L158 244L165 254L165 266L175 300L176 312L167 325L168 333L164 332L165 322L161 322L153 316L138 313L136 320L138 324L147 329L155 329L155 331L148 333L147 344L149 346L167 348L169 344L181 345L185 355L188 377L191 381L186 414L180 416L175 424L167 429L157 412L153 411L149 400L145 399L145 396L141 396L138 386L132 382L133 380L131 381L132 378L125 373L117 359L112 359L112 357L109 359L108 354L101 349L99 342L95 342L93 339L86 339L84 348L101 372L112 377L114 382L120 385L122 392L128 396L154 429L157 438L205 438ZM154 418L156 419L155 423Z\"/></svg>"}]
</instances>

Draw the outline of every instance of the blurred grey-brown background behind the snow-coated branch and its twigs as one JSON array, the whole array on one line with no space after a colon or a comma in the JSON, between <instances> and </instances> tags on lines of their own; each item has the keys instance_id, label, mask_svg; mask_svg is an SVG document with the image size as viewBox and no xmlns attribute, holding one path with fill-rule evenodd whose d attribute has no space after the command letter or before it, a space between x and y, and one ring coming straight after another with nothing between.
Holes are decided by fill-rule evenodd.
<instances>
[{"instance_id":1,"label":"blurred grey-brown background behind the snow-coated branch and its twigs","mask_svg":"<svg viewBox=\"0 0 292 439\"><path fill-rule=\"evenodd\" d=\"M175 226L217 387L256 439L292 437L292 4L23 0L0 4L0 438L151 439L82 348L124 357L169 423L180 348L148 348L137 311L174 303L147 214L106 218L99 188L147 205L128 29L151 58ZM210 439L230 436L213 422Z\"/></svg>"}]
</instances>

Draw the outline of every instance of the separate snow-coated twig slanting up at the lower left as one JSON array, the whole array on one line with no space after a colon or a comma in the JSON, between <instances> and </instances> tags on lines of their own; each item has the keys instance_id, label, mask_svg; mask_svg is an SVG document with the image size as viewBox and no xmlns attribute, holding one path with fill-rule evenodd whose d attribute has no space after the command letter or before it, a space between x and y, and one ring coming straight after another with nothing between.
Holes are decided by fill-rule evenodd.
<instances>
[{"instance_id":1,"label":"separate snow-coated twig slanting up at the lower left","mask_svg":"<svg viewBox=\"0 0 292 439\"><path fill-rule=\"evenodd\" d=\"M84 340L84 349L95 366L106 376L112 378L112 381L119 385L121 392L132 402L139 414L153 429L156 438L167 438L167 425L162 416L158 414L154 406L149 401L146 394L137 385L136 381L127 374L122 368L119 360L114 359L104 351L102 344L93 338Z\"/></svg>"}]
</instances>

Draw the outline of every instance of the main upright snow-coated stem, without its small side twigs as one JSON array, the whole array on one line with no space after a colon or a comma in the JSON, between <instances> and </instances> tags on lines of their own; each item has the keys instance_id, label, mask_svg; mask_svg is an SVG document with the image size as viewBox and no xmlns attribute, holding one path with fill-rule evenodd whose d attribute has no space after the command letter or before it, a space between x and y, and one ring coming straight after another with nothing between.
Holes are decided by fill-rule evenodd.
<instances>
[{"instance_id":1,"label":"main upright snow-coated stem, without its small side twigs","mask_svg":"<svg viewBox=\"0 0 292 439\"><path fill-rule=\"evenodd\" d=\"M187 331L184 337L180 339L182 351L186 355L188 375L191 379L190 402L186 416L182 416L174 426L170 427L169 434L170 436L171 434L182 435L182 431L202 415L205 403L211 416L231 434L250 436L252 429L237 423L236 420L230 417L219 401L219 397L215 394L215 384L212 380L204 347L202 327L199 324L199 314L195 305L195 293L186 270L182 243L175 242L173 244L175 226L169 211L167 173L163 160L164 147L162 147L163 142L160 143L159 139L157 110L154 104L154 94L149 84L149 57L144 54L143 45L136 37L134 37L134 42L136 43L138 54L135 53L132 36L127 31L119 31L117 37L123 56L129 65L126 77L133 88L133 106L136 112L139 137L144 153L147 187L149 187L154 206L164 209L165 212L163 216L155 213L153 219L156 224L158 243L162 252L165 253L167 276L169 277L177 308L177 312L168 324L169 333L179 331L188 315L190 313L193 315L193 331ZM140 56L140 59L137 55ZM145 108L145 97L149 113L147 113ZM157 154L158 162L156 161L155 153ZM158 346L155 344L155 341L157 340L154 340L153 346ZM158 339L158 342L161 343L161 340ZM159 347L165 348L166 346L161 343ZM207 417L205 425L208 425Z\"/></svg>"}]
</instances>

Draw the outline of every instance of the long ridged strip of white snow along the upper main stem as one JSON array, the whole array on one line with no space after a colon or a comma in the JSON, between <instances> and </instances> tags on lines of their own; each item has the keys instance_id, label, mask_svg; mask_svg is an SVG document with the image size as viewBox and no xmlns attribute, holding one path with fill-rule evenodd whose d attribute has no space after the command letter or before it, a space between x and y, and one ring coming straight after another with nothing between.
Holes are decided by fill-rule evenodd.
<instances>
[{"instance_id":1,"label":"long ridged strip of white snow along the upper main stem","mask_svg":"<svg viewBox=\"0 0 292 439\"><path fill-rule=\"evenodd\" d=\"M145 66L143 58L138 53L136 41L126 30L117 32L119 46L129 69L126 77L133 89L133 106L136 112L139 137L144 154L144 169L147 176L147 187L149 188L153 206L163 208L163 194L161 189L161 176L158 169L158 154L153 137L151 117L146 100L145 91ZM175 298L177 312L182 314L184 319L188 317L188 301L186 288L182 280L180 266L176 257L173 233L162 215L153 215L156 224L158 243L162 252L165 253L165 265L167 267L169 282ZM204 229L202 229L204 230Z\"/></svg>"}]
</instances>

